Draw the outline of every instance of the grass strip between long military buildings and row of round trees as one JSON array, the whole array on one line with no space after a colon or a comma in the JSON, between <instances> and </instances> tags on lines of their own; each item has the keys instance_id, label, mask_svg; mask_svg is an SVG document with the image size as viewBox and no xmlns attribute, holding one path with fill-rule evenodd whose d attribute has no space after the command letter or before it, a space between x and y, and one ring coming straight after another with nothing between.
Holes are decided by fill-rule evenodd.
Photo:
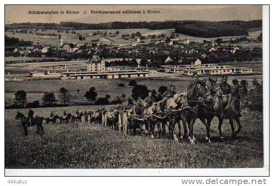
<instances>
[{"instance_id":1,"label":"grass strip between long military buildings and row of round trees","mask_svg":"<svg viewBox=\"0 0 274 186\"><path fill-rule=\"evenodd\" d=\"M214 78L214 77L212 77ZM219 80L221 77L215 77ZM228 83L232 85L232 79L237 78L239 81L242 79L247 80L249 88L252 87L252 80L254 78L259 81L262 80L262 75L253 76L236 76L229 77ZM176 92L181 93L187 89L191 77L180 77L180 78L147 78L138 79L137 84L145 85L149 90L156 90L160 86L170 85L176 86ZM84 94L91 88L94 87L98 94L97 97L103 97L106 94L111 96L111 99L115 99L116 96L121 96L122 93L126 94L126 97L131 96L132 87L129 87L129 79L91 79L91 80L41 80L41 81L24 81L24 82L5 82L5 103L10 104L14 99L14 93L19 90L24 90L27 93L29 101L40 100L45 92L53 92L58 99L58 92L61 87L68 89L72 95L71 105L76 104L87 104L89 101L85 98ZM117 83L123 83L126 85L125 88L119 88ZM79 94L77 90L80 90Z\"/></svg>"}]
</instances>

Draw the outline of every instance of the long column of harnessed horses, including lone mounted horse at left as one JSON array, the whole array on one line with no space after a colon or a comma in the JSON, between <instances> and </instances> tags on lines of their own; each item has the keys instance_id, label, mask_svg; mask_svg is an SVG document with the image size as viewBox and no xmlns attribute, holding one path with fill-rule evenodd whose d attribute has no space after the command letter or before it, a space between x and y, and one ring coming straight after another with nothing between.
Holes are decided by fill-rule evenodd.
<instances>
[{"instance_id":1,"label":"long column of harnessed horses, including lone mounted horse at left","mask_svg":"<svg viewBox=\"0 0 274 186\"><path fill-rule=\"evenodd\" d=\"M170 138L178 141L186 138L188 133L190 142L195 143L193 126L196 119L200 119L206 127L206 140L210 142L211 122L214 117L217 117L219 119L220 138L223 139L222 124L224 119L229 120L232 137L235 137L242 129L239 118L242 104L248 102L247 93L241 88L233 96L231 94L224 95L216 80L210 78L208 80L208 85L206 85L204 80L197 83L186 93L179 93L171 98L164 97L161 101L155 102L151 106L142 101L141 103L139 102L139 105L133 105L127 110L113 108L111 111L107 111L105 108L101 108L94 112L82 114L82 116L70 113L61 117L55 115L46 118L45 121L46 123L56 123L59 120L60 123L88 122L89 124L102 124L114 130L123 130L126 134L129 129L135 135L137 134L137 129L142 132L144 126L144 134L151 138L154 138L155 126L158 128L157 137L165 137L167 126ZM37 125L38 133L40 128L42 134L44 133L42 127L44 118L35 117L31 124L20 112L17 113L15 118L21 121L25 135L27 135L27 127L33 125ZM236 131L233 121L238 125ZM183 124L183 135L181 133L181 122ZM178 125L179 129L178 135L175 133L176 125Z\"/></svg>"}]
</instances>

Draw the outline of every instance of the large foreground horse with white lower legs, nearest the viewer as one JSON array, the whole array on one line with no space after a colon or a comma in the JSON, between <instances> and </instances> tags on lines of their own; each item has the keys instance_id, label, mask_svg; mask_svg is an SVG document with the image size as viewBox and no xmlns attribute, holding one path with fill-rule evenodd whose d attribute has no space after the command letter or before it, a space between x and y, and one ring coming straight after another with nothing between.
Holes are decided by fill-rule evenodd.
<instances>
[{"instance_id":1,"label":"large foreground horse with white lower legs, nearest the viewer","mask_svg":"<svg viewBox=\"0 0 274 186\"><path fill-rule=\"evenodd\" d=\"M193 136L193 125L198 118L198 108L201 105L205 105L206 103L212 103L212 95L209 92L208 88L205 85L205 81L200 81L198 84L193 86L186 93L186 103L187 105L181 105L181 109L175 114L180 116L180 119L183 123L184 136L187 133L186 123L188 124L188 139L191 143L195 143ZM172 125L170 125L171 132L174 134L175 141L178 141L177 136L174 133L174 126L178 123L178 117L174 117L174 120L170 121ZM206 126L207 127L207 126ZM208 127L207 127L208 129Z\"/></svg>"}]
</instances>

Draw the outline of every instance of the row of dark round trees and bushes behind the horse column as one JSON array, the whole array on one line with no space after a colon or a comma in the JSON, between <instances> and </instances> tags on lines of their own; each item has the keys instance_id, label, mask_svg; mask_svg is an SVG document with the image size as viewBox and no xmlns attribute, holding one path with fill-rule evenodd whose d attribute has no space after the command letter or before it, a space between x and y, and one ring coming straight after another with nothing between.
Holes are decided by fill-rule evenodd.
<instances>
[{"instance_id":1,"label":"row of dark round trees and bushes behind the horse column","mask_svg":"<svg viewBox=\"0 0 274 186\"><path fill-rule=\"evenodd\" d=\"M128 100L129 104L133 104L133 100L137 100L138 98L145 99L148 96L148 93L151 91L152 96L156 101L162 100L162 95L168 90L166 86L160 86L158 91L156 90L149 90L145 85L139 85L135 80L130 80L129 84L132 87L132 94L131 97L126 99L126 94L122 93L121 97L117 95L116 99L109 101L111 96L106 94L105 96L98 97L96 89L91 87L89 91L87 91L84 96L90 102L90 105L108 105L108 104L121 104L123 101ZM256 79L252 81L252 85L254 86L253 89L247 90L247 81L241 80L240 82L241 87L247 93L248 98L250 100L250 104L248 107L252 110L263 110L263 82L259 83ZM124 88L125 84L117 84L118 87ZM249 92L249 93L248 93ZM80 90L77 90L79 95ZM71 93L65 89L61 88L59 90L59 102L61 104L57 104L57 99L54 93L46 92L42 97L42 103L38 100L33 102L28 102L27 100L27 93L23 90L17 91L15 93L14 103L12 105L6 106L5 108L37 108L37 107L57 107L57 106L68 106L71 102L72 95Z\"/></svg>"}]
</instances>

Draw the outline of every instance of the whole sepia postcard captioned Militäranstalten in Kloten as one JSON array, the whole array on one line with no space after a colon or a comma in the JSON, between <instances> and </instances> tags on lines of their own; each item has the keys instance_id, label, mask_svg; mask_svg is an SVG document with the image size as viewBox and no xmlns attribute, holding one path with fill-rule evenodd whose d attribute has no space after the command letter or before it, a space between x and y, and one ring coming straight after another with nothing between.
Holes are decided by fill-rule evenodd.
<instances>
[{"instance_id":1,"label":"whole sepia postcard captioned Milit\u00e4ranstalten in Kloten","mask_svg":"<svg viewBox=\"0 0 274 186\"><path fill-rule=\"evenodd\" d=\"M4 5L5 176L264 168L263 6Z\"/></svg>"}]
</instances>

